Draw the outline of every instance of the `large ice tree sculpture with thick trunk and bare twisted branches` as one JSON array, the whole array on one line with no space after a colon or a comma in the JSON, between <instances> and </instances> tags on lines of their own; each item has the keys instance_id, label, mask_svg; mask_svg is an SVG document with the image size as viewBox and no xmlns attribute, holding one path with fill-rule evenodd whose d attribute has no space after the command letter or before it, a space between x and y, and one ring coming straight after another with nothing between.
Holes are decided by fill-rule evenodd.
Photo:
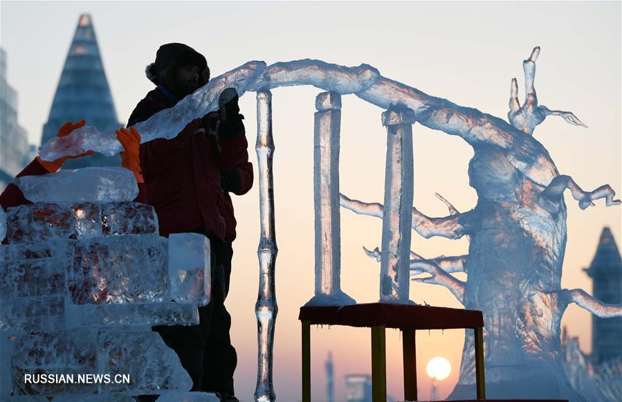
<instances>
[{"instance_id":1,"label":"large ice tree sculpture with thick trunk and bare twisted branches","mask_svg":"<svg viewBox=\"0 0 622 402\"><path fill-rule=\"evenodd\" d=\"M486 395L490 397L583 399L571 387L560 364L560 321L570 303L599 317L622 316L622 304L605 304L583 289L561 289L566 246L566 205L569 189L581 209L605 199L618 205L614 191L603 185L582 190L570 176L560 175L533 130L547 116L583 123L567 111L538 105L533 79L540 48L524 60L525 93L520 106L512 80L508 113L511 124L412 89L422 102L417 120L426 127L464 138L475 151L468 175L477 205L458 212L450 203L447 217L427 217L412 209L412 228L419 235L470 239L468 255L423 259L414 255L414 280L448 288L467 309L484 313ZM342 206L378 217L383 205L342 196ZM377 257L378 250L368 252ZM466 272L466 282L452 273ZM475 394L473 334L465 338L459 383L450 399Z\"/></svg>"}]
</instances>

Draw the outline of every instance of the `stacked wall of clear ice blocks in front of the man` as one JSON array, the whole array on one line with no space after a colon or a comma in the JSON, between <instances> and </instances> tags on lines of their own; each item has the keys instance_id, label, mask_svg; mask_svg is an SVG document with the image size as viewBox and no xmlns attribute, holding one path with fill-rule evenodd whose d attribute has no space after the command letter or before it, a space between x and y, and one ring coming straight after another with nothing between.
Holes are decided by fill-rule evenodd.
<instances>
[{"instance_id":1,"label":"stacked wall of clear ice blocks in front of the man","mask_svg":"<svg viewBox=\"0 0 622 402\"><path fill-rule=\"evenodd\" d=\"M35 203L0 211L8 241L0 246L0 400L217 400L187 393L190 376L150 328L198 324L197 306L210 300L208 239L160 237L154 209L132 201L129 170L87 168L19 185ZM62 376L50 381L54 374ZM78 383L86 374L110 381Z\"/></svg>"}]
</instances>

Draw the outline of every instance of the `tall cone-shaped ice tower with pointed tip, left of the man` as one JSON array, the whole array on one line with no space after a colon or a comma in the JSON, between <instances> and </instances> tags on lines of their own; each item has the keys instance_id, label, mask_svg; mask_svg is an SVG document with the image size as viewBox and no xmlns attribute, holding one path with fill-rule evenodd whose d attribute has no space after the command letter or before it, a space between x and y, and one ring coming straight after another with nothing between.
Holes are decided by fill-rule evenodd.
<instances>
[{"instance_id":1,"label":"tall cone-shaped ice tower with pointed tip, left of the man","mask_svg":"<svg viewBox=\"0 0 622 402\"><path fill-rule=\"evenodd\" d=\"M64 122L76 122L81 118L86 119L87 126L95 126L100 132L110 132L120 127L95 30L88 14L80 15L75 28L50 116L43 127L42 144L55 136ZM88 158L66 161L63 168L118 165L119 156L94 154Z\"/></svg>"}]
</instances>

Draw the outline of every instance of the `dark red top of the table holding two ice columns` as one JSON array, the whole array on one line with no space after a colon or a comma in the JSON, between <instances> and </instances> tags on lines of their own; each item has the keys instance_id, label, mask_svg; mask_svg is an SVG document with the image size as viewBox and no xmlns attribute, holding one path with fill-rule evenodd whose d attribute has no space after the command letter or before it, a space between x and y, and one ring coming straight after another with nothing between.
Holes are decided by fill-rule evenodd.
<instances>
[{"instance_id":1,"label":"dark red top of the table holding two ice columns","mask_svg":"<svg viewBox=\"0 0 622 402\"><path fill-rule=\"evenodd\" d=\"M343 307L300 307L298 320L311 324L412 329L484 327L482 311L414 304L363 303Z\"/></svg>"}]
</instances>

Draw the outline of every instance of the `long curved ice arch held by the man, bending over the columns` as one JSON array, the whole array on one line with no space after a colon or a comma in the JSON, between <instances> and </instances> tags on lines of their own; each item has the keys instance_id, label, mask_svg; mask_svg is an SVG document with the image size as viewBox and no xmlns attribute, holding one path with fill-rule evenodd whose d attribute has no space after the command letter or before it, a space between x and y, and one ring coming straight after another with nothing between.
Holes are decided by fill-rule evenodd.
<instances>
[{"instance_id":1,"label":"long curved ice arch held by the man, bending over the columns","mask_svg":"<svg viewBox=\"0 0 622 402\"><path fill-rule=\"evenodd\" d=\"M233 87L241 96L246 91L297 85L311 85L342 95L354 94L383 109L391 106L408 107L414 111L417 121L430 129L460 136L470 145L488 143L511 149L511 163L538 185L549 185L559 174L547 150L531 135L495 116L461 107L383 77L368 64L347 67L309 59L277 62L270 66L266 66L265 62L247 62L214 77L175 107L156 113L149 120L138 123L136 128L143 142L155 138L173 138L190 120L216 110L218 96L225 88ZM113 132L96 134L100 133L94 127L83 127L75 130L71 136L52 138L40 148L40 155L51 161L88 149L106 155L114 155L121 150Z\"/></svg>"}]
</instances>

